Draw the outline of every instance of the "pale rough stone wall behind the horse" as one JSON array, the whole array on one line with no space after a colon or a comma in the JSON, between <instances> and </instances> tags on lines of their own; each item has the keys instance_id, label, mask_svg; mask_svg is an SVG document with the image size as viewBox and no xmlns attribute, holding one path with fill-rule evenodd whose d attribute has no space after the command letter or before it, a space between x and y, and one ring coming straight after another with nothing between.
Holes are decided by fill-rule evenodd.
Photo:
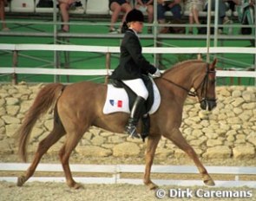
<instances>
[{"instance_id":1,"label":"pale rough stone wall behind the horse","mask_svg":"<svg viewBox=\"0 0 256 201\"><path fill-rule=\"evenodd\" d=\"M20 126L24 113L30 108L36 93L43 85L1 84L0 86L0 154L16 152L12 138ZM253 159L256 148L256 88L218 87L218 107L213 112L200 110L188 98L183 112L181 132L201 158ZM52 113L38 120L31 134L29 152L35 152L38 142L49 134ZM64 138L51 147L49 154L56 154ZM128 139L125 134L108 133L91 128L85 133L75 152L83 156L138 156L145 144L138 139ZM173 143L162 138L156 154L160 157L184 156Z\"/></svg>"}]
</instances>

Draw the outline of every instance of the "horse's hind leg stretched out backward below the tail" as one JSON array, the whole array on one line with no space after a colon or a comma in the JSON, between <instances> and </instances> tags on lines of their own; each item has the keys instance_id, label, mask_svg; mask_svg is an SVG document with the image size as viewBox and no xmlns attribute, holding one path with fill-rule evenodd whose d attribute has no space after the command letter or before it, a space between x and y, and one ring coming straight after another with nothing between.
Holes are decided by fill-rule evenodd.
<instances>
[{"instance_id":1,"label":"horse's hind leg stretched out backward below the tail","mask_svg":"<svg viewBox=\"0 0 256 201\"><path fill-rule=\"evenodd\" d=\"M54 145L56 141L58 141L63 135L65 134L65 130L61 124L55 123L53 130L49 133L49 135L43 139L38 147L37 151L35 153L34 159L28 168L25 176L21 176L17 179L17 185L22 186L36 171L36 166L40 162L40 159L42 159L43 154L49 150L49 147Z\"/></svg>"}]
</instances>

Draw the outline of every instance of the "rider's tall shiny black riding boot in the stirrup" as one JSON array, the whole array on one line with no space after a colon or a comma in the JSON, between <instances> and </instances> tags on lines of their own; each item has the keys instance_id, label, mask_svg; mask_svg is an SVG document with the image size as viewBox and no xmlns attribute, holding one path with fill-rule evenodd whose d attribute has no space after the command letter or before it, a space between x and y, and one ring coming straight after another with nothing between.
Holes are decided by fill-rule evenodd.
<instances>
[{"instance_id":1,"label":"rider's tall shiny black riding boot in the stirrup","mask_svg":"<svg viewBox=\"0 0 256 201\"><path fill-rule=\"evenodd\" d=\"M143 99L141 96L137 96L134 106L131 110L130 117L128 119L128 124L125 127L125 133L128 133L128 135L132 138L141 138L141 136L136 131L136 126L141 118L141 108L143 107L144 102L145 99Z\"/></svg>"}]
</instances>

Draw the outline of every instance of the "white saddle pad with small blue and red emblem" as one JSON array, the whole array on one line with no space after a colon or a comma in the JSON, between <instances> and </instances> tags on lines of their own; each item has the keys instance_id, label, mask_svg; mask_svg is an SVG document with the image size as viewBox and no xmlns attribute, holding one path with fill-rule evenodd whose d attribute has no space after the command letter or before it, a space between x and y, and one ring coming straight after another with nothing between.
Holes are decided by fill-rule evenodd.
<instances>
[{"instance_id":1,"label":"white saddle pad with small blue and red emblem","mask_svg":"<svg viewBox=\"0 0 256 201\"><path fill-rule=\"evenodd\" d=\"M158 88L153 82L154 89L154 104L150 108L149 113L154 113L160 106L161 96ZM130 113L128 94L123 88L115 88L113 85L108 84L107 99L103 107L103 113Z\"/></svg>"}]
</instances>

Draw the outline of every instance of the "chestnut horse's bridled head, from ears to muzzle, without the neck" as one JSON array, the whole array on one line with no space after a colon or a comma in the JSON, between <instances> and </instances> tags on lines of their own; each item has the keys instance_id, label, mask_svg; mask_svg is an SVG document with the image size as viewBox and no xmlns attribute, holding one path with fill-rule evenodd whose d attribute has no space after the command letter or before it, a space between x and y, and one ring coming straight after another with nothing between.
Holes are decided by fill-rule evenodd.
<instances>
[{"instance_id":1,"label":"chestnut horse's bridled head, from ears to muzzle, without the neck","mask_svg":"<svg viewBox=\"0 0 256 201\"><path fill-rule=\"evenodd\" d=\"M215 64L207 64L206 72L202 80L194 81L195 94L200 100L200 107L204 110L211 111L217 106L215 94L216 71ZM198 83L199 82L199 83Z\"/></svg>"}]
</instances>

